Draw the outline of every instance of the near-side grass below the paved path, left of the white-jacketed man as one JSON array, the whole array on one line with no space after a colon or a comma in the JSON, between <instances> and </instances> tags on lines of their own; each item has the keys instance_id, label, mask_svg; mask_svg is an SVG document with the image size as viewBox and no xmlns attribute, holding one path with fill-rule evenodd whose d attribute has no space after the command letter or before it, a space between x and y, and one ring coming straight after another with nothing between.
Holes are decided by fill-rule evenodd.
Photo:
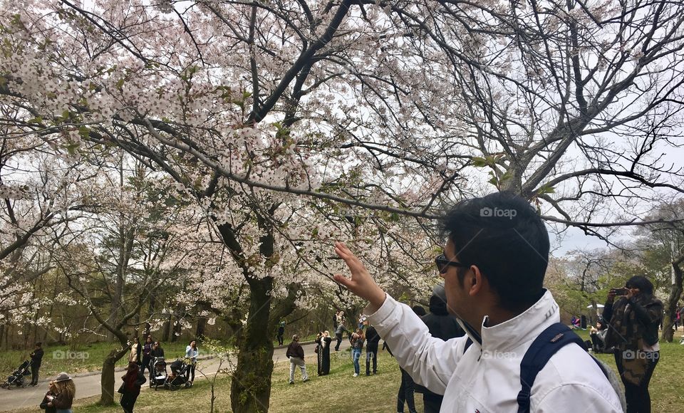
<instances>
[{"instance_id":1,"label":"near-side grass below the paved path, left of the white-jacketed man","mask_svg":"<svg viewBox=\"0 0 684 413\"><path fill-rule=\"evenodd\" d=\"M386 351L378 355L378 374L366 377L365 353L362 357L363 375L352 377L354 368L348 351L331 354L330 375L316 376L316 357L306 357L307 372L311 380L301 382L299 369L295 372L295 384L289 385L289 363L277 363L273 373L271 408L269 412L392 412L396 407L400 372L394 358ZM214 412L230 412L230 380L219 376L216 385L217 399ZM135 412L209 412L211 388L207 380L195 380L195 386L175 392L169 390L144 390L135 403ZM76 390L78 394L78 389ZM99 407L99 397L79 399L73 407L75 413L120 413L121 407ZM38 401L40 402L40 401ZM423 411L422 394L415 395L418 411ZM17 413L35 412L22 409ZM408 409L405 409L408 411Z\"/></svg>"}]
</instances>

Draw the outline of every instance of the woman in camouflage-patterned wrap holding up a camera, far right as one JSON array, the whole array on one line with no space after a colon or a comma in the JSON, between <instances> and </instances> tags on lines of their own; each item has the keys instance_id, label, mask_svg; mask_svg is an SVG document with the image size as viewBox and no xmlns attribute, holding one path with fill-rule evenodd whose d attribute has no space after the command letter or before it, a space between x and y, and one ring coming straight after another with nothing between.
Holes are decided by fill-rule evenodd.
<instances>
[{"instance_id":1,"label":"woman in camouflage-patterned wrap holding up a camera, far right","mask_svg":"<svg viewBox=\"0 0 684 413\"><path fill-rule=\"evenodd\" d=\"M616 296L620 296L613 304ZM627 399L627 413L650 413L648 383L660 358L658 325L663 303L653 296L653 283L633 276L625 288L608 293L603 319L610 320L606 347L615 347L615 362Z\"/></svg>"}]
</instances>

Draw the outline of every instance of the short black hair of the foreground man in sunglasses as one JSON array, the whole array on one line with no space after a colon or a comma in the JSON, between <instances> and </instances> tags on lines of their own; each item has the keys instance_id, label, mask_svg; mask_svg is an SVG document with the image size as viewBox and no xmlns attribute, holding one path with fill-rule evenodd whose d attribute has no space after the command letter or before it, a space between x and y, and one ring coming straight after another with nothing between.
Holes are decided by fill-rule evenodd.
<instances>
[{"instance_id":1,"label":"short black hair of the foreground man in sunglasses","mask_svg":"<svg viewBox=\"0 0 684 413\"><path fill-rule=\"evenodd\" d=\"M521 311L539 300L549 233L526 199L496 192L459 202L445 215L442 231L460 262L480 268L502 308ZM466 273L467 268L459 268L460 283Z\"/></svg>"}]
</instances>

